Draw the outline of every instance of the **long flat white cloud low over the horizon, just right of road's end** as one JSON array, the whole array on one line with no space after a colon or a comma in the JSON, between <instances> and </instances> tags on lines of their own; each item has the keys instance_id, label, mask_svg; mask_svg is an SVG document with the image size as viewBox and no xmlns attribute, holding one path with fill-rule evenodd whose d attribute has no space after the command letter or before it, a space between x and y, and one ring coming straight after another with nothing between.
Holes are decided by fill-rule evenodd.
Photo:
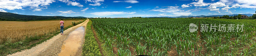
<instances>
[{"instance_id":1,"label":"long flat white cloud low over the horizon, just right of road's end","mask_svg":"<svg viewBox=\"0 0 256 56\"><path fill-rule=\"evenodd\" d=\"M92 15L95 16L110 16L110 15L124 15L124 14L134 14L136 12L94 12L94 13L90 13Z\"/></svg>"}]
</instances>

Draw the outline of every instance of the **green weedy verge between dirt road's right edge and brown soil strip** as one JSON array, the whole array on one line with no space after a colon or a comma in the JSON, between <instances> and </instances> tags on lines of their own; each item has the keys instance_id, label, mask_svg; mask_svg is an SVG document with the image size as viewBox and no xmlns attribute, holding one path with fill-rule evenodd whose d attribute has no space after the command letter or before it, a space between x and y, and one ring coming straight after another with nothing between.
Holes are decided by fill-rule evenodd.
<instances>
[{"instance_id":1,"label":"green weedy verge between dirt road's right edge and brown soil strip","mask_svg":"<svg viewBox=\"0 0 256 56\"><path fill-rule=\"evenodd\" d=\"M92 33L92 21L87 23L82 56L101 56L99 46Z\"/></svg>"}]
</instances>

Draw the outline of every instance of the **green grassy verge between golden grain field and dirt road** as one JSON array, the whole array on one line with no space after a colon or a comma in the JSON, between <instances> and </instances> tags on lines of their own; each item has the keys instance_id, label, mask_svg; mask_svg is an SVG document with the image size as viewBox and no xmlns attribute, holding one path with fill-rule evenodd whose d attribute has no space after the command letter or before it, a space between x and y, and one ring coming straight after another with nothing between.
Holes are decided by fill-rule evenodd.
<instances>
[{"instance_id":1,"label":"green grassy verge between golden grain field and dirt road","mask_svg":"<svg viewBox=\"0 0 256 56\"><path fill-rule=\"evenodd\" d=\"M83 20L82 22L84 22ZM82 23L78 22L78 23ZM71 28L75 25L70 25L67 28L64 28L64 30ZM59 30L56 30L52 33L45 34L43 36L34 36L34 37L27 37L23 41L12 43L10 41L5 42L5 44L0 44L0 56L6 56L8 54L16 53L25 49L30 49L32 47L35 47L37 44L41 44L46 40L51 39L53 36L59 34Z\"/></svg>"}]
</instances>

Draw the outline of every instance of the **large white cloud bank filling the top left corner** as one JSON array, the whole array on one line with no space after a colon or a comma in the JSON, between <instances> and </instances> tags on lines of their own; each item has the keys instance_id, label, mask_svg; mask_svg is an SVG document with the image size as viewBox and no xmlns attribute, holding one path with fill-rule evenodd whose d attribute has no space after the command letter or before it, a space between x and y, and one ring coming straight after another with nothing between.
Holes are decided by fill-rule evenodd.
<instances>
[{"instance_id":1,"label":"large white cloud bank filling the top left corner","mask_svg":"<svg viewBox=\"0 0 256 56\"><path fill-rule=\"evenodd\" d=\"M24 7L29 7L31 9L38 9L47 7L50 3L55 2L54 0L1 0L1 9L22 9Z\"/></svg>"}]
</instances>

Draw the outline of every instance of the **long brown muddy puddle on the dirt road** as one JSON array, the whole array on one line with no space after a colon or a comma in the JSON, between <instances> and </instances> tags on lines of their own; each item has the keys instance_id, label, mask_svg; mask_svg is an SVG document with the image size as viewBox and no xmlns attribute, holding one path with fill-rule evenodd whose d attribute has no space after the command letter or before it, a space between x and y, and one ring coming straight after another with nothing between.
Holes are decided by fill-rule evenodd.
<instances>
[{"instance_id":1,"label":"long brown muddy puddle on the dirt road","mask_svg":"<svg viewBox=\"0 0 256 56\"><path fill-rule=\"evenodd\" d=\"M75 56L78 48L81 47L81 41L84 38L84 27L79 27L68 35L64 41L59 56Z\"/></svg>"}]
</instances>

